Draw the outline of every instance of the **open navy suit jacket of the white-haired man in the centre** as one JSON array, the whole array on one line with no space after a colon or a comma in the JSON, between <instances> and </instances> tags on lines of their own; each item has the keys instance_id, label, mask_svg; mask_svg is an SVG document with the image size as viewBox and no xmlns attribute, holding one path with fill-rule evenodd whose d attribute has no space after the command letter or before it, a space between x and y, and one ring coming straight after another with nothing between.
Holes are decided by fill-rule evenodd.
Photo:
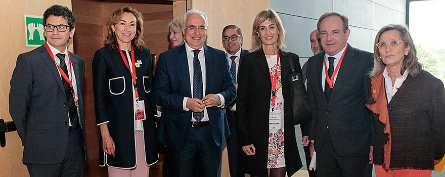
<instances>
[{"instance_id":1,"label":"open navy suit jacket of the white-haired man in the centre","mask_svg":"<svg viewBox=\"0 0 445 177\"><path fill-rule=\"evenodd\" d=\"M205 95L219 93L229 105L236 97L236 89L226 54L204 45L204 55ZM192 119L192 111L183 110L184 97L192 98L190 84L185 45L159 55L154 80L155 103L163 107L158 140L178 151L186 145ZM230 135L226 110L215 106L207 108L207 113L214 142L219 146Z\"/></svg>"}]
</instances>

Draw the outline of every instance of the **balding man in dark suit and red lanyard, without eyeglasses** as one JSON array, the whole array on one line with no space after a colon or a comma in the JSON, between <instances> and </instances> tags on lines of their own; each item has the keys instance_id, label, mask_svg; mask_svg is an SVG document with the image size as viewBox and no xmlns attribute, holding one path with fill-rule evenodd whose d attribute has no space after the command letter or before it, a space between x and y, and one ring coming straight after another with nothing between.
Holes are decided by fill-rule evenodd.
<instances>
[{"instance_id":1,"label":"balding man in dark suit and red lanyard, without eyeglasses","mask_svg":"<svg viewBox=\"0 0 445 177\"><path fill-rule=\"evenodd\" d=\"M317 175L363 176L372 160L374 127L365 107L372 54L348 45L346 16L326 13L317 28L325 52L309 58L306 72Z\"/></svg>"}]
</instances>

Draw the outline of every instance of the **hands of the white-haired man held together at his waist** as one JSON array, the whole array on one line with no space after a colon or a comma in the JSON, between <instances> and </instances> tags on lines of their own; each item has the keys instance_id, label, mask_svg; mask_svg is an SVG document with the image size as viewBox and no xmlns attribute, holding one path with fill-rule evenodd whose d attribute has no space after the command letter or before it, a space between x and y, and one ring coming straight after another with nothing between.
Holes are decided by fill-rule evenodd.
<instances>
[{"instance_id":1,"label":"hands of the white-haired man held together at his waist","mask_svg":"<svg viewBox=\"0 0 445 177\"><path fill-rule=\"evenodd\" d=\"M221 104L221 100L215 94L206 95L202 100L190 98L187 100L187 108L193 112L202 112L204 108L210 108Z\"/></svg>"}]
</instances>

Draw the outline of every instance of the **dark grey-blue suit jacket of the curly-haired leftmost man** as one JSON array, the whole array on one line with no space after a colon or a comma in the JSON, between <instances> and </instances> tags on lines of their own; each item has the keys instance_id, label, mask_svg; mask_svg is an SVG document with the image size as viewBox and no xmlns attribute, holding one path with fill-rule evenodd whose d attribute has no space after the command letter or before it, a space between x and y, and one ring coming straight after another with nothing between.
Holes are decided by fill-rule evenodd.
<instances>
[{"instance_id":1,"label":"dark grey-blue suit jacket of the curly-haired leftmost man","mask_svg":"<svg viewBox=\"0 0 445 177\"><path fill-rule=\"evenodd\" d=\"M83 118L83 75L85 62L69 53L77 83L79 118L85 159L88 149ZM9 110L22 140L23 162L62 162L68 143L68 107L65 88L54 60L44 46L20 54L11 78Z\"/></svg>"}]
</instances>

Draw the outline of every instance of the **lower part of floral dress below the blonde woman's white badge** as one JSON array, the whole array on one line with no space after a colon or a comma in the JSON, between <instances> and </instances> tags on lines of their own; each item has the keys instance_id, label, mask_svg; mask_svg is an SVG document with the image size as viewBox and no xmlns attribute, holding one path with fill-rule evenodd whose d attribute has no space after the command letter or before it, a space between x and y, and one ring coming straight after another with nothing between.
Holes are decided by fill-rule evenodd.
<instances>
[{"instance_id":1,"label":"lower part of floral dress below the blonde woman's white badge","mask_svg":"<svg viewBox=\"0 0 445 177\"><path fill-rule=\"evenodd\" d=\"M285 167L284 162L284 127L269 130L268 168Z\"/></svg>"}]
</instances>

